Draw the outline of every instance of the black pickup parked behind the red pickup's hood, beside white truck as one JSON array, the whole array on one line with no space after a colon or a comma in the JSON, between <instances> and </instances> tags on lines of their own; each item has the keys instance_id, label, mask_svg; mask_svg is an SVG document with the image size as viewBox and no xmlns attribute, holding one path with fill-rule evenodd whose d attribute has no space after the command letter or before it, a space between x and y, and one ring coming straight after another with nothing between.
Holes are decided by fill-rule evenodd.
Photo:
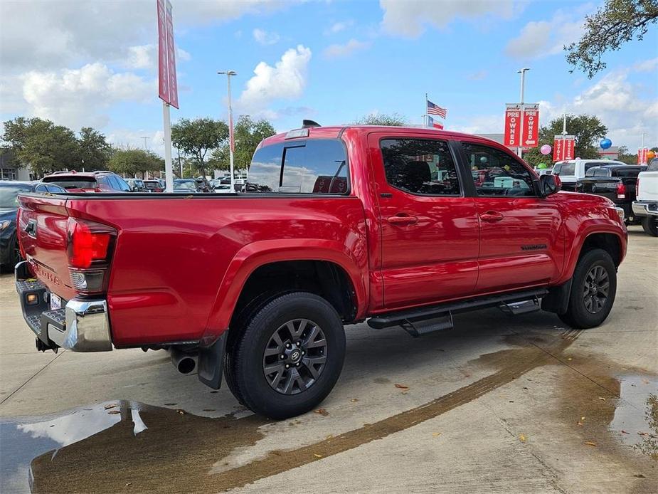
<instances>
[{"instance_id":1,"label":"black pickup parked behind the red pickup's hood, beside white truck","mask_svg":"<svg viewBox=\"0 0 658 494\"><path fill-rule=\"evenodd\" d=\"M627 223L634 223L632 204L635 201L635 181L637 175L646 169L646 165L629 164L592 167L585 172L584 179L578 179L575 191L607 197L624 210Z\"/></svg>"}]
</instances>

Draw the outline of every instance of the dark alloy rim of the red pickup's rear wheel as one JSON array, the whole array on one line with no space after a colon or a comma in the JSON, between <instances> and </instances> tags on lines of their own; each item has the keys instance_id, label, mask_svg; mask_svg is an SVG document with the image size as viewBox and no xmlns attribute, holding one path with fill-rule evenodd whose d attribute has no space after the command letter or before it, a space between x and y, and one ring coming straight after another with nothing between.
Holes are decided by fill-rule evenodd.
<instances>
[{"instance_id":1,"label":"dark alloy rim of the red pickup's rear wheel","mask_svg":"<svg viewBox=\"0 0 658 494\"><path fill-rule=\"evenodd\" d=\"M322 329L308 319L294 319L270 338L262 356L262 372L272 389L297 394L317 382L326 363L327 339Z\"/></svg>"}]
</instances>

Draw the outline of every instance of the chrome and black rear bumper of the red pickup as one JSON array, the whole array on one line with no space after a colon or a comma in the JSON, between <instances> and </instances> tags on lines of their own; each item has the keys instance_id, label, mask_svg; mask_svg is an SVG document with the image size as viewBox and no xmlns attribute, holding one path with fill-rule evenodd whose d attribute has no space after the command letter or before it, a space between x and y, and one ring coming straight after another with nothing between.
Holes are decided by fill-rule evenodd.
<instances>
[{"instance_id":1,"label":"chrome and black rear bumper of the red pickup","mask_svg":"<svg viewBox=\"0 0 658 494\"><path fill-rule=\"evenodd\" d=\"M63 308L50 310L50 293L43 283L31 278L26 261L16 264L15 273L23 318L46 347L73 352L112 350L110 320L104 299L73 299ZM36 295L36 300L28 303L28 295Z\"/></svg>"}]
</instances>

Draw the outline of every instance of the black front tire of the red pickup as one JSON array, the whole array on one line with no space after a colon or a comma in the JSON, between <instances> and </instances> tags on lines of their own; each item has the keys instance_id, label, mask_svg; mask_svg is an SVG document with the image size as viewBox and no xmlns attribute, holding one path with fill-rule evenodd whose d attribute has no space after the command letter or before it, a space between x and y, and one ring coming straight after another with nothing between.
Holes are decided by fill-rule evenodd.
<instances>
[{"instance_id":1,"label":"black front tire of the red pickup","mask_svg":"<svg viewBox=\"0 0 658 494\"><path fill-rule=\"evenodd\" d=\"M610 314L616 293L615 263L603 249L593 249L584 253L575 266L567 312L558 316L577 329L596 327Z\"/></svg>"}]
</instances>

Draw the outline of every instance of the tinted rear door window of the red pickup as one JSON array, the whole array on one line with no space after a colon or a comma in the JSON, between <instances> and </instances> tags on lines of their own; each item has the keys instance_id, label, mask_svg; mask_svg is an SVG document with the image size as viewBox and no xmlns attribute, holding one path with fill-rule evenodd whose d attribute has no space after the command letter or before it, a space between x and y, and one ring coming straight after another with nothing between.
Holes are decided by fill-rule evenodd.
<instances>
[{"instance_id":1,"label":"tinted rear door window of the red pickup","mask_svg":"<svg viewBox=\"0 0 658 494\"><path fill-rule=\"evenodd\" d=\"M460 195L457 169L447 142L385 139L380 145L388 184L411 194Z\"/></svg>"}]
</instances>

